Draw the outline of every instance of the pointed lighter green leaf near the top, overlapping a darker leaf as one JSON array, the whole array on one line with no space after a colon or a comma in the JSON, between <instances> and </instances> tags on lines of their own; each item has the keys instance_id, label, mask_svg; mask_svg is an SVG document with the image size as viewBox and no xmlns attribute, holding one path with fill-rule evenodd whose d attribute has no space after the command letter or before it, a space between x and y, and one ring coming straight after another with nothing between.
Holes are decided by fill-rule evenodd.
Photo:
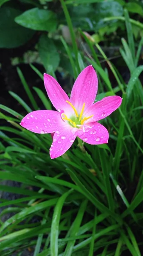
<instances>
[{"instance_id":1,"label":"pointed lighter green leaf near the top, overlapping a darker leaf","mask_svg":"<svg viewBox=\"0 0 143 256\"><path fill-rule=\"evenodd\" d=\"M15 18L15 22L28 29L53 32L57 26L55 13L38 8L23 12Z\"/></svg>"}]
</instances>

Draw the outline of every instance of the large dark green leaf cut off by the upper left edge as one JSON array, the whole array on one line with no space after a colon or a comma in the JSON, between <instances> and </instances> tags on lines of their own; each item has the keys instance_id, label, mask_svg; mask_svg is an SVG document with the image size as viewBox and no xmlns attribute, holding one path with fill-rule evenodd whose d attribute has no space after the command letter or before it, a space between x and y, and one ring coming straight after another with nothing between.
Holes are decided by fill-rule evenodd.
<instances>
[{"instance_id":1,"label":"large dark green leaf cut off by the upper left edge","mask_svg":"<svg viewBox=\"0 0 143 256\"><path fill-rule=\"evenodd\" d=\"M34 31L15 23L14 18L21 13L20 10L11 7L0 8L0 48L19 47L34 35Z\"/></svg>"}]
</instances>

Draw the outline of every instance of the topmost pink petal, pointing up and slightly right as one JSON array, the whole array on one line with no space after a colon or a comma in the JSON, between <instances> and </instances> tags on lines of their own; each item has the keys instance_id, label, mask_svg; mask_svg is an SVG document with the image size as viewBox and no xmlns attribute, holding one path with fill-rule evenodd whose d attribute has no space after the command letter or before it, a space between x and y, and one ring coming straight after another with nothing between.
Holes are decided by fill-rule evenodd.
<instances>
[{"instance_id":1,"label":"topmost pink petal, pointing up and slightly right","mask_svg":"<svg viewBox=\"0 0 143 256\"><path fill-rule=\"evenodd\" d=\"M90 65L79 74L71 91L71 103L79 113L84 103L85 109L94 103L97 90L98 78L92 65Z\"/></svg>"}]
</instances>

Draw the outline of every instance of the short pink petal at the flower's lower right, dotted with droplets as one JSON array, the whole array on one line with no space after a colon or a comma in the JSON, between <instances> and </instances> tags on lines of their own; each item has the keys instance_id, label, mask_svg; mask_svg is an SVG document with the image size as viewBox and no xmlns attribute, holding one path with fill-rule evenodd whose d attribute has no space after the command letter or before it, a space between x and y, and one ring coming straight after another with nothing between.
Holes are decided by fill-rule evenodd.
<instances>
[{"instance_id":1,"label":"short pink petal at the flower's lower right, dotted with droplets","mask_svg":"<svg viewBox=\"0 0 143 256\"><path fill-rule=\"evenodd\" d=\"M88 127L85 126L84 129L85 131L79 129L77 135L84 142L91 145L108 143L109 133L107 129L98 122L88 123Z\"/></svg>"}]
</instances>

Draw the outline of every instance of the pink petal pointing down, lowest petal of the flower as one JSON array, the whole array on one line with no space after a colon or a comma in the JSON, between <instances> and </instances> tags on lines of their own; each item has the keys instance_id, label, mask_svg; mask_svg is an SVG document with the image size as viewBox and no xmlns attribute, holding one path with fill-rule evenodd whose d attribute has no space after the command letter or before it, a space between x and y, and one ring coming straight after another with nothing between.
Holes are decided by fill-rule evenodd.
<instances>
[{"instance_id":1,"label":"pink petal pointing down, lowest petal of the flower","mask_svg":"<svg viewBox=\"0 0 143 256\"><path fill-rule=\"evenodd\" d=\"M53 143L50 147L50 158L62 156L76 139L77 128L72 128L66 124L60 131L56 131L53 136Z\"/></svg>"}]
</instances>

